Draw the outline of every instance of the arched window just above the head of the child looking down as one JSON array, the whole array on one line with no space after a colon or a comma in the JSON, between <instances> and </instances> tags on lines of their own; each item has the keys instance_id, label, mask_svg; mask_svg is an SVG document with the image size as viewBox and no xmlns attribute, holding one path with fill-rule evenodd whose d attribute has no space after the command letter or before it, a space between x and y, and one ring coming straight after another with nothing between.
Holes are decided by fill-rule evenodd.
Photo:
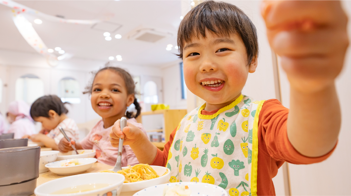
<instances>
[{"instance_id":1,"label":"arched window just above the head of the child looking down","mask_svg":"<svg viewBox=\"0 0 351 196\"><path fill-rule=\"evenodd\" d=\"M27 74L19 77L15 84L15 99L32 104L44 96L44 82L36 75Z\"/></svg>"}]
</instances>

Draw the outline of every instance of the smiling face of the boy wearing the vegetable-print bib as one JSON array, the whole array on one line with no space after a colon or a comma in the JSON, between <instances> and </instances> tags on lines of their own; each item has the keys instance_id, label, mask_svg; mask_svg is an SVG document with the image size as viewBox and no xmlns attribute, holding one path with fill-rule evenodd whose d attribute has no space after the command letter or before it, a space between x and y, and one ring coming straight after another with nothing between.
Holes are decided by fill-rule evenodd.
<instances>
[{"instance_id":1,"label":"smiling face of the boy wearing the vegetable-print bib","mask_svg":"<svg viewBox=\"0 0 351 196\"><path fill-rule=\"evenodd\" d=\"M186 86L207 104L230 104L240 96L249 72L256 70L256 58L247 65L246 47L236 34L222 37L206 32L206 38L184 46Z\"/></svg>"}]
</instances>

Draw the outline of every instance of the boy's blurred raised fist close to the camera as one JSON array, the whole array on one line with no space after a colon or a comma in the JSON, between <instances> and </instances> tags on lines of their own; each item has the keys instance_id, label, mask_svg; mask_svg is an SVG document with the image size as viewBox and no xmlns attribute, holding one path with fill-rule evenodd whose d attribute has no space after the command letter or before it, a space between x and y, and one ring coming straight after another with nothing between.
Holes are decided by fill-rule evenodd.
<instances>
[{"instance_id":1,"label":"boy's blurred raised fist close to the camera","mask_svg":"<svg viewBox=\"0 0 351 196\"><path fill-rule=\"evenodd\" d=\"M291 87L312 93L334 85L349 45L339 0L264 0L269 43Z\"/></svg>"}]
</instances>

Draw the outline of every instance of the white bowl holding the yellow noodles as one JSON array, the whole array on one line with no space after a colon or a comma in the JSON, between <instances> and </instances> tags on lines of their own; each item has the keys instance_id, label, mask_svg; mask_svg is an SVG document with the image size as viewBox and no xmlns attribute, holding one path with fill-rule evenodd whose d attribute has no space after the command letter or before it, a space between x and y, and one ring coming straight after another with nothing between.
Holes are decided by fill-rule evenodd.
<instances>
[{"instance_id":1,"label":"white bowl holding the yellow noodles","mask_svg":"<svg viewBox=\"0 0 351 196\"><path fill-rule=\"evenodd\" d=\"M167 183L170 181L171 178L171 171L168 168L161 167L161 166L156 166L156 165L150 165L152 169L154 169L160 177L158 178L153 178L150 180L144 180L144 181L139 181L139 182L130 182L130 183L123 183L122 187L122 192L131 192L135 193L136 191L139 191L141 189L145 189L147 187ZM128 167L122 167L122 169L126 169ZM112 171L112 169L110 169ZM164 176L163 175L166 171L168 170L168 173ZM130 195L131 193L128 193Z\"/></svg>"}]
</instances>

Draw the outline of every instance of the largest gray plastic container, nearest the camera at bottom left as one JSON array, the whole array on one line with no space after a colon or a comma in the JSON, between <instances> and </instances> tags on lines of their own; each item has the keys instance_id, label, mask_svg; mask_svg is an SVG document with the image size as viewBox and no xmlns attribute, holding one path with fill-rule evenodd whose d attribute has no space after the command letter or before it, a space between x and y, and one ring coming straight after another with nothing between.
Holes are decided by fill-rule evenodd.
<instances>
[{"instance_id":1,"label":"largest gray plastic container, nearest the camera at bottom left","mask_svg":"<svg viewBox=\"0 0 351 196\"><path fill-rule=\"evenodd\" d=\"M0 149L0 196L28 196L39 177L40 147Z\"/></svg>"}]
</instances>

